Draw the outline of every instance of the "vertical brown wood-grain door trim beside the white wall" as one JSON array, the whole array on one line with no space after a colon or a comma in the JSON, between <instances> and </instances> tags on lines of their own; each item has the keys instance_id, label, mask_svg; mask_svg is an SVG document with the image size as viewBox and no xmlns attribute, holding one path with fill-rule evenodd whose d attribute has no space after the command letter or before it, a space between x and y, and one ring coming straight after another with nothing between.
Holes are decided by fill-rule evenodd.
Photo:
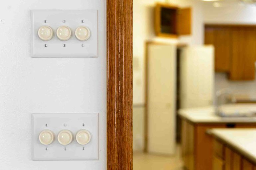
<instances>
[{"instance_id":1,"label":"vertical brown wood-grain door trim beside the white wall","mask_svg":"<svg viewBox=\"0 0 256 170\"><path fill-rule=\"evenodd\" d=\"M132 0L107 0L107 170L132 170Z\"/></svg>"}]
</instances>

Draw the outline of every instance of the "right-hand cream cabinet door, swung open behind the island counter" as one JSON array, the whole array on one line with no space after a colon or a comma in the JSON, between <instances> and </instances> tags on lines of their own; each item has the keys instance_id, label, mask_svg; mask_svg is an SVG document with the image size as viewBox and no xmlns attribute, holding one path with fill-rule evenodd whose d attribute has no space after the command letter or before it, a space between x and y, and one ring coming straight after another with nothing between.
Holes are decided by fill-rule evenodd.
<instances>
[{"instance_id":1,"label":"right-hand cream cabinet door, swung open behind the island counter","mask_svg":"<svg viewBox=\"0 0 256 170\"><path fill-rule=\"evenodd\" d=\"M180 108L213 104L214 48L188 46L180 50Z\"/></svg>"}]
</instances>

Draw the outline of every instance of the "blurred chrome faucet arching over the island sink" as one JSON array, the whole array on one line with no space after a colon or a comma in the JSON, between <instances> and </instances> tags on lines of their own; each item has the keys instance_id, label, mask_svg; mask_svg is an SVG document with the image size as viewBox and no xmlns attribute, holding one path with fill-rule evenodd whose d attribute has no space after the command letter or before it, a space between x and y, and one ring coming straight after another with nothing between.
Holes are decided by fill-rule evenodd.
<instances>
[{"instance_id":1,"label":"blurred chrome faucet arching over the island sink","mask_svg":"<svg viewBox=\"0 0 256 170\"><path fill-rule=\"evenodd\" d=\"M223 96L223 97L222 97ZM226 103L235 103L236 99L232 91L228 88L223 88L216 91L216 101L215 101L215 114L220 115L219 107Z\"/></svg>"}]
</instances>

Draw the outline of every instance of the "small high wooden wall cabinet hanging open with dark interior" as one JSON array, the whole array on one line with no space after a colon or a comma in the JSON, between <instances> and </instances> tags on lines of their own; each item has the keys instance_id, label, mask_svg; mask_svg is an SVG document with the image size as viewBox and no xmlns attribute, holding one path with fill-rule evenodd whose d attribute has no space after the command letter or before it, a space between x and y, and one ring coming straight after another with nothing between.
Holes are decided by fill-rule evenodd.
<instances>
[{"instance_id":1,"label":"small high wooden wall cabinet hanging open with dark interior","mask_svg":"<svg viewBox=\"0 0 256 170\"><path fill-rule=\"evenodd\" d=\"M175 38L191 34L191 8L179 8L157 3L155 7L155 32L157 36Z\"/></svg>"}]
</instances>

